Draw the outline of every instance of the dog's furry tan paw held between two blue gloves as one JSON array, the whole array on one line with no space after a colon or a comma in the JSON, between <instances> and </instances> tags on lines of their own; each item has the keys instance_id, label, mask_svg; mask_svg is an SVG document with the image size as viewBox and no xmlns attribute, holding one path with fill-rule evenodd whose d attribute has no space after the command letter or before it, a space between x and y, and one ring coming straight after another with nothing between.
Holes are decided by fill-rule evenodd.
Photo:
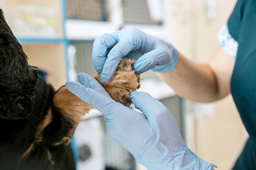
<instances>
[{"instance_id":1,"label":"dog's furry tan paw held between two blue gloves","mask_svg":"<svg viewBox=\"0 0 256 170\"><path fill-rule=\"evenodd\" d=\"M127 58L121 60L113 79L106 83L101 83L100 74L97 73L93 76L106 89L112 99L124 106L132 104L130 93L140 87L140 75L135 73L134 63L135 60Z\"/></svg>"}]
</instances>

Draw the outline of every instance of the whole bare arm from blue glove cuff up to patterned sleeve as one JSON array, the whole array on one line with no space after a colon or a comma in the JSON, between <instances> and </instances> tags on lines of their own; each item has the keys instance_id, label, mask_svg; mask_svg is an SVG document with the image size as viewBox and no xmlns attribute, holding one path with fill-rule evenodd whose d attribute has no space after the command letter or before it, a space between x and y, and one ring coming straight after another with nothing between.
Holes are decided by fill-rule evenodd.
<instances>
[{"instance_id":1,"label":"whole bare arm from blue glove cuff up to patterned sleeve","mask_svg":"<svg viewBox=\"0 0 256 170\"><path fill-rule=\"evenodd\" d=\"M175 92L195 102L213 102L230 93L230 80L235 59L227 55L221 46L209 62L196 63L179 53L175 69L157 75Z\"/></svg>"}]
</instances>

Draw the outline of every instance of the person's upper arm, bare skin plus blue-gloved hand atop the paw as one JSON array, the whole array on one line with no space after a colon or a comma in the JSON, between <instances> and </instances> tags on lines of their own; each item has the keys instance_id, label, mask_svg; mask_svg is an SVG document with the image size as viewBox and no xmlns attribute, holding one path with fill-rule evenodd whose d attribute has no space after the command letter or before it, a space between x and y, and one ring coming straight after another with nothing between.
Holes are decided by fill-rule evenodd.
<instances>
[{"instance_id":1,"label":"person's upper arm, bare skin plus blue-gloved hand atop the paw","mask_svg":"<svg viewBox=\"0 0 256 170\"><path fill-rule=\"evenodd\" d=\"M171 43L135 28L105 34L94 41L92 60L104 81L113 77L124 57L137 60L136 73L156 71L177 94L195 102L213 102L229 94L235 59L220 46L208 63L201 64L188 60Z\"/></svg>"}]
</instances>

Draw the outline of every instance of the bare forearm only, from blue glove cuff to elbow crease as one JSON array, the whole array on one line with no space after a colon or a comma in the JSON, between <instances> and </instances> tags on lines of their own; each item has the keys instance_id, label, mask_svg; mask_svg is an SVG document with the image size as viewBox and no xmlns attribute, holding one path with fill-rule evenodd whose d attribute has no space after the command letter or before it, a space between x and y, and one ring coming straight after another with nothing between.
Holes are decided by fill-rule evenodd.
<instances>
[{"instance_id":1,"label":"bare forearm only, from blue glove cuff to elbow crease","mask_svg":"<svg viewBox=\"0 0 256 170\"><path fill-rule=\"evenodd\" d=\"M219 99L216 77L208 64L192 62L180 54L174 71L157 74L181 97L195 102Z\"/></svg>"}]
</instances>

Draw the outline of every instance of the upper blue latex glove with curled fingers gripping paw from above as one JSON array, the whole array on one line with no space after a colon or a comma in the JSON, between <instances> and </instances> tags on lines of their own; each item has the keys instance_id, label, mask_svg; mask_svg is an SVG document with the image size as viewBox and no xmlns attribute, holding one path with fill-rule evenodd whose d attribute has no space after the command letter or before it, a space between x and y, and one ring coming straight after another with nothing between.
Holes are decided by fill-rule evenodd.
<instances>
[{"instance_id":1,"label":"upper blue latex glove with curled fingers gripping paw from above","mask_svg":"<svg viewBox=\"0 0 256 170\"><path fill-rule=\"evenodd\" d=\"M136 73L151 69L157 72L170 72L178 61L178 51L171 43L148 35L139 29L123 29L115 33L104 34L94 40L92 61L101 81L114 77L119 61L124 58L137 60Z\"/></svg>"}]
</instances>

